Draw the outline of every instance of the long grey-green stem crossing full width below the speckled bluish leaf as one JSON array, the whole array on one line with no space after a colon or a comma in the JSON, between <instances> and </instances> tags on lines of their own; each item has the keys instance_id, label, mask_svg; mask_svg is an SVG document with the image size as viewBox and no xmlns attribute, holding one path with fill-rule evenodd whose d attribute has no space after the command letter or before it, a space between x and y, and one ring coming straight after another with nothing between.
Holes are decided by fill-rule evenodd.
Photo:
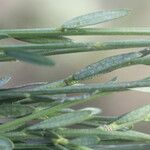
<instances>
[{"instance_id":1,"label":"long grey-green stem crossing full width below the speckled bluish leaf","mask_svg":"<svg viewBox=\"0 0 150 150\"><path fill-rule=\"evenodd\" d=\"M22 95L42 95L42 94L70 94L70 93L88 93L94 91L100 92L116 92L126 91L130 88L150 87L150 81L131 81L112 84L86 84L80 86L67 86L54 89L44 90L26 90L26 91L1 91L0 96L22 96Z\"/></svg>"}]
</instances>

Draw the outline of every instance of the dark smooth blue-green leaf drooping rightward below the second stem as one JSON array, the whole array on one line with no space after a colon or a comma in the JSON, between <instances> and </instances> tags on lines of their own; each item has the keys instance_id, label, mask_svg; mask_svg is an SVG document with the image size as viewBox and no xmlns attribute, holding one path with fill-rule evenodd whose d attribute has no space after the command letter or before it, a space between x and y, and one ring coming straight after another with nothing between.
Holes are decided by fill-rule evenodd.
<instances>
[{"instance_id":1,"label":"dark smooth blue-green leaf drooping rightward below the second stem","mask_svg":"<svg viewBox=\"0 0 150 150\"><path fill-rule=\"evenodd\" d=\"M54 62L51 59L44 57L44 56L40 56L32 52L26 52L23 50L21 51L20 50L5 50L5 54L7 56L14 57L18 60L33 63L33 64L47 65L47 66L54 65Z\"/></svg>"}]
</instances>

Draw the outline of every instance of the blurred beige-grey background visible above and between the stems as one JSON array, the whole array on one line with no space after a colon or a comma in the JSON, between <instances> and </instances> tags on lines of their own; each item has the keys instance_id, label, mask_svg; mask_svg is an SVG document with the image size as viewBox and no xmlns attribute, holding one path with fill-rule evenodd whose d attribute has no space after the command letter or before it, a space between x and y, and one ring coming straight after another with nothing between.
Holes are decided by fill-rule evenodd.
<instances>
[{"instance_id":1,"label":"blurred beige-grey background visible above and between the stems","mask_svg":"<svg viewBox=\"0 0 150 150\"><path fill-rule=\"evenodd\" d=\"M10 28L49 28L59 27L64 21L78 15L97 10L128 8L132 12L121 19L100 24L96 27L127 27L150 26L150 1L148 0L0 0L0 29ZM112 39L141 39L149 37L123 36L89 36L72 37L75 41L109 41ZM2 40L0 44L14 44L14 40ZM82 67L105 57L126 53L137 49L111 50L107 52L88 52L52 56L56 61L55 67L39 67L22 62L7 62L0 64L0 76L10 75L12 80L8 86L38 81L56 81L67 77ZM117 76L119 81L142 79L150 76L150 67L133 66L98 76L87 82L101 83ZM99 98L87 103L86 106L99 106L104 115L120 115L136 107L149 104L148 93L120 92ZM83 106L80 106L83 107ZM147 123L136 126L141 131L150 131ZM149 132L150 133L150 132Z\"/></svg>"}]
</instances>

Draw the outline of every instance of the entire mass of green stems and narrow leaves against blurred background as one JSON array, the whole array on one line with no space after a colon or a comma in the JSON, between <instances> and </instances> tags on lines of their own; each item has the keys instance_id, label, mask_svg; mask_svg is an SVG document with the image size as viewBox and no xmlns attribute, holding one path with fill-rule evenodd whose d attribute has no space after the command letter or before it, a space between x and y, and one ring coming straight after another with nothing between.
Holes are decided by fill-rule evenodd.
<instances>
[{"instance_id":1,"label":"entire mass of green stems and narrow leaves against blurred background","mask_svg":"<svg viewBox=\"0 0 150 150\"><path fill-rule=\"evenodd\" d=\"M75 35L150 35L149 28L85 28L127 15L126 9L100 11L66 21L60 28L0 30L0 39L28 42L0 46L0 61L20 60L52 66L46 56L123 48L149 47L148 39L109 42L74 42ZM66 37L68 36L68 37ZM102 116L100 108L71 107L112 92L149 92L150 78L81 84L82 80L131 65L150 65L150 50L105 58L53 83L32 83L3 88L10 77L0 79L0 149L21 150L148 150L150 135L135 131L134 124L150 121L150 105L120 116Z\"/></svg>"}]
</instances>

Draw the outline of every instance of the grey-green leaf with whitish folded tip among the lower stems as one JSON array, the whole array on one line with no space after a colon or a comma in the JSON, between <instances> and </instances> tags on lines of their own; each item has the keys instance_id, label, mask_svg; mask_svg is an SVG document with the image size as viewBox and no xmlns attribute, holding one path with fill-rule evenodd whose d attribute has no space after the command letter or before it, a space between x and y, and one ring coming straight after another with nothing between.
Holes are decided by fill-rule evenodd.
<instances>
[{"instance_id":1,"label":"grey-green leaf with whitish folded tip among the lower stems","mask_svg":"<svg viewBox=\"0 0 150 150\"><path fill-rule=\"evenodd\" d=\"M62 114L50 119L44 120L36 125L29 127L29 130L53 129L58 127L69 126L90 119L94 114L99 113L99 109L86 108L81 111Z\"/></svg>"}]
</instances>

